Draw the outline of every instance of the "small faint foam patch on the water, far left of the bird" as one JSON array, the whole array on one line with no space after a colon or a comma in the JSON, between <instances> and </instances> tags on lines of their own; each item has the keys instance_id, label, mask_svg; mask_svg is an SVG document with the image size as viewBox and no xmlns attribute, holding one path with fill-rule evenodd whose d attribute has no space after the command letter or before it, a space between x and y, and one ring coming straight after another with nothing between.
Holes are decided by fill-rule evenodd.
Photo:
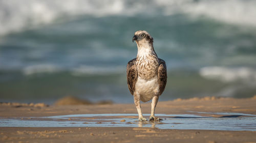
<instances>
[{"instance_id":1,"label":"small faint foam patch on the water, far left of the bird","mask_svg":"<svg viewBox=\"0 0 256 143\"><path fill-rule=\"evenodd\" d=\"M54 73L58 72L60 69L54 65L42 64L42 65L33 65L28 66L23 69L25 75L32 75L36 73Z\"/></svg>"}]
</instances>

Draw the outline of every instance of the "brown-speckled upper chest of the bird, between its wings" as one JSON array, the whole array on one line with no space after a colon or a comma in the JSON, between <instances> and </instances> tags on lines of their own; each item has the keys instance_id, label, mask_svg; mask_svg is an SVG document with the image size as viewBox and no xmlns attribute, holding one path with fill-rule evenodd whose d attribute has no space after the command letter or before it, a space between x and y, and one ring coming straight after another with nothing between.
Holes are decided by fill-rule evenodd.
<instances>
[{"instance_id":1,"label":"brown-speckled upper chest of the bird, between its wings","mask_svg":"<svg viewBox=\"0 0 256 143\"><path fill-rule=\"evenodd\" d=\"M136 68L138 76L149 80L157 75L159 61L154 54L143 54L137 56Z\"/></svg>"}]
</instances>

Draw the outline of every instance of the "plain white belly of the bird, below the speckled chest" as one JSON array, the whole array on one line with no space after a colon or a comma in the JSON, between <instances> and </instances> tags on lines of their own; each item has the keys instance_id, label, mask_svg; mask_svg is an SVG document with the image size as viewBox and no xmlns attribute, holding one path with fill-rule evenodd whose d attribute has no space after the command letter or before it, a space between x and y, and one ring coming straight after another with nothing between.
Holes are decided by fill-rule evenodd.
<instances>
[{"instance_id":1,"label":"plain white belly of the bird, below the speckled chest","mask_svg":"<svg viewBox=\"0 0 256 143\"><path fill-rule=\"evenodd\" d=\"M140 95L141 101L150 101L153 98L153 96L159 94L157 76L150 80L145 80L139 76L135 84L135 92Z\"/></svg>"}]
</instances>

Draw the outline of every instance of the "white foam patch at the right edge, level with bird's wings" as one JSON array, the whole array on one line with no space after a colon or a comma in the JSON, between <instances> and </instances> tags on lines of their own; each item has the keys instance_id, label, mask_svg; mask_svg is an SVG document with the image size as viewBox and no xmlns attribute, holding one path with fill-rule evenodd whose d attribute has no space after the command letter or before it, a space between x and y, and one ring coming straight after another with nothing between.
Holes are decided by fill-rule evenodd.
<instances>
[{"instance_id":1,"label":"white foam patch at the right edge, level with bird's wings","mask_svg":"<svg viewBox=\"0 0 256 143\"><path fill-rule=\"evenodd\" d=\"M204 67L200 69L199 73L202 77L218 79L223 82L232 82L236 80L256 82L256 70L246 67Z\"/></svg>"}]
</instances>

